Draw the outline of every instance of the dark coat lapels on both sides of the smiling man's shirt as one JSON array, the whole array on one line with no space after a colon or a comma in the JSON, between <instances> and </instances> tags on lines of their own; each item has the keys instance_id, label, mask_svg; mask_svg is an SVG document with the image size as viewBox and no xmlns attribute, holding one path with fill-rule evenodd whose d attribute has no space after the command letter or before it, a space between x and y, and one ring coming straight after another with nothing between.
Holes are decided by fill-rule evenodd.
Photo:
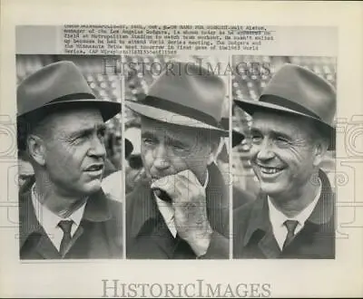
<instances>
[{"instance_id":1,"label":"dark coat lapels on both sides of the smiling man's shirt","mask_svg":"<svg viewBox=\"0 0 363 299\"><path fill-rule=\"evenodd\" d=\"M319 169L319 178L321 180L321 191L318 202L313 208L312 213L308 217L307 221L322 225L328 223L331 217L334 215L334 201L335 195L329 183L327 175ZM256 201L253 203L253 207L250 213L250 221L246 230L246 234L243 238L244 245L247 245L250 241L250 237L257 230L267 232L270 229L269 219L269 204L267 195L260 193Z\"/></svg>"}]
</instances>

